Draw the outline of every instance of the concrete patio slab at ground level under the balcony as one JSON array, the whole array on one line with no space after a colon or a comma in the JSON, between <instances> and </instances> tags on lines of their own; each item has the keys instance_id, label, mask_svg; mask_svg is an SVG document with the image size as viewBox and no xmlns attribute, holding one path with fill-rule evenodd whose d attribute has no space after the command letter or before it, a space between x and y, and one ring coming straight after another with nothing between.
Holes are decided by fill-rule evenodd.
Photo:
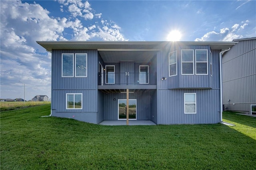
<instances>
[{"instance_id":1,"label":"concrete patio slab at ground level under the balcony","mask_svg":"<svg viewBox=\"0 0 256 170\"><path fill-rule=\"evenodd\" d=\"M116 126L116 125L126 125L126 120L118 120L118 121L102 121L100 125L110 125L110 126ZM129 125L156 125L152 121L138 121L138 120L130 120Z\"/></svg>"}]
</instances>

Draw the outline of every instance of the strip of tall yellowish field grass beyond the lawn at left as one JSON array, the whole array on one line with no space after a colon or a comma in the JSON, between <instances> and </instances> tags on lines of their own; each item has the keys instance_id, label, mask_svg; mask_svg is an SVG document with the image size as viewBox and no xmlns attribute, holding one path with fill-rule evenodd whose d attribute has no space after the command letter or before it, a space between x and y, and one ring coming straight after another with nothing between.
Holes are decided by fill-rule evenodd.
<instances>
[{"instance_id":1,"label":"strip of tall yellowish field grass beyond the lawn at left","mask_svg":"<svg viewBox=\"0 0 256 170\"><path fill-rule=\"evenodd\" d=\"M5 102L0 102L0 111L10 111L10 110L20 109L24 107L46 105L49 103L51 102L50 101L26 101L24 103L20 101L5 101Z\"/></svg>"}]
</instances>

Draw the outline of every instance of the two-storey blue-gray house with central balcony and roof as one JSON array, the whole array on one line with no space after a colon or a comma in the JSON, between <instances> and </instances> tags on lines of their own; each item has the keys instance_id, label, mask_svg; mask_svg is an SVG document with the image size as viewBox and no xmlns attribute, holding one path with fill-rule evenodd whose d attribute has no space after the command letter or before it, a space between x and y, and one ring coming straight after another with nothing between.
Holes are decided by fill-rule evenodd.
<instances>
[{"instance_id":1,"label":"two-storey blue-gray house with central balcony and roof","mask_svg":"<svg viewBox=\"0 0 256 170\"><path fill-rule=\"evenodd\" d=\"M220 60L238 42L37 43L52 53L54 117L200 124L222 121Z\"/></svg>"}]
</instances>

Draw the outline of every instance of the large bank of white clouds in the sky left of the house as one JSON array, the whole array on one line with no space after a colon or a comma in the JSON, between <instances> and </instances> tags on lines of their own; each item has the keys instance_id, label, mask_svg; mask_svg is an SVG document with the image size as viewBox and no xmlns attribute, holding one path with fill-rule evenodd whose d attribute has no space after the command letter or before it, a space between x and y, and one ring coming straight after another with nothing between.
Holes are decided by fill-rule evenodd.
<instances>
[{"instance_id":1,"label":"large bank of white clouds in the sky left of the house","mask_svg":"<svg viewBox=\"0 0 256 170\"><path fill-rule=\"evenodd\" d=\"M22 84L18 82L19 80L24 81L26 88L29 89L26 100L32 99L35 95L50 97L51 54L36 41L87 41L92 38L107 41L126 40L117 24L107 20L100 22L102 14L95 14L89 2L58 2L60 10L68 12L70 16L49 16L50 12L36 3L0 1L1 97L20 96ZM86 27L83 19L94 19L95 24ZM103 27L105 30L102 30ZM10 90L14 93L10 94Z\"/></svg>"}]
</instances>

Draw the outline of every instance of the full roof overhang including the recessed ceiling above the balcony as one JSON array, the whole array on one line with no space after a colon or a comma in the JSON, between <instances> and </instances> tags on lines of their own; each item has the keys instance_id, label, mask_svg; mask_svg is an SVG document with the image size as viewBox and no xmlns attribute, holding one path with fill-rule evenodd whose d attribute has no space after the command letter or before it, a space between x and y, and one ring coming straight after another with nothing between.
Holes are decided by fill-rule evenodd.
<instances>
[{"instance_id":1,"label":"full roof overhang including the recessed ceiling above the balcony","mask_svg":"<svg viewBox=\"0 0 256 170\"><path fill-rule=\"evenodd\" d=\"M37 41L47 51L53 49L96 49L104 62L149 62L158 51L172 45L210 45L211 49L228 49L238 42L108 42L108 41Z\"/></svg>"}]
</instances>

